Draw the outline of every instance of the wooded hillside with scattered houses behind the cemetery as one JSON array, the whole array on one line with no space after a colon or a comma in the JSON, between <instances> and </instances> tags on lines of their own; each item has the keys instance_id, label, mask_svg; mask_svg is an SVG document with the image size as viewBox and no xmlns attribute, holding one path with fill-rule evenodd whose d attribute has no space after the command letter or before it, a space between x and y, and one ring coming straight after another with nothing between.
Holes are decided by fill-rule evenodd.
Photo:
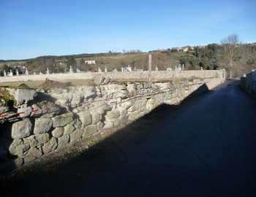
<instances>
[{"instance_id":1,"label":"wooded hillside with scattered houses behind the cemetery","mask_svg":"<svg viewBox=\"0 0 256 197\"><path fill-rule=\"evenodd\" d=\"M79 69L82 72L97 72L98 68L104 71L117 69L121 67L132 66L132 69L148 69L148 54L152 54L152 69L166 70L175 69L178 64L184 64L186 70L201 69L226 69L232 77L241 77L244 73L256 69L256 45L238 45L234 47L233 64L229 65L225 46L210 44L205 47L193 47L187 51L161 50L151 53L142 53L140 50L133 50L128 53L94 53L79 55L61 55L61 56L41 56L23 61L1 61L0 75L10 69L16 70L20 74L25 72L25 67L30 74L39 72L45 73L49 69L50 73L68 72L69 67L76 72ZM97 60L96 64L85 63L86 60Z\"/></svg>"}]
</instances>

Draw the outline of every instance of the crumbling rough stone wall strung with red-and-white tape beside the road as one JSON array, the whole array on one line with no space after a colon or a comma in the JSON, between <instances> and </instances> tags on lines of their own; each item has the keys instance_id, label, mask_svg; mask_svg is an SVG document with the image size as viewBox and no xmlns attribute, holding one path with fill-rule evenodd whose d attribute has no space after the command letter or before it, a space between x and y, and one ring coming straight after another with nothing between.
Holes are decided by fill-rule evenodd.
<instances>
[{"instance_id":1,"label":"crumbling rough stone wall strung with red-and-white tape beside the road","mask_svg":"<svg viewBox=\"0 0 256 197\"><path fill-rule=\"evenodd\" d=\"M11 116L8 121L7 117L1 117L0 162L12 161L15 166L21 166L77 140L86 140L105 129L132 122L161 104L175 104L192 93L214 88L220 82L217 76L176 82L85 85L56 88L48 93L43 90L27 93L34 95L34 99L18 98L22 101L18 112L26 113ZM164 89L167 90L123 97ZM67 105L69 107L50 109ZM48 110L33 112L38 109Z\"/></svg>"}]
</instances>

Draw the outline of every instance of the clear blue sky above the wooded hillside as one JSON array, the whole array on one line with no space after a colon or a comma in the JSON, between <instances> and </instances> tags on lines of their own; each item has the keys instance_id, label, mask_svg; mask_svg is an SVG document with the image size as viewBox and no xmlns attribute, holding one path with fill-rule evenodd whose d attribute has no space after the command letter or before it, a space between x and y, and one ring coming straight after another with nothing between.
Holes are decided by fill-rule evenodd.
<instances>
[{"instance_id":1,"label":"clear blue sky above the wooded hillside","mask_svg":"<svg viewBox=\"0 0 256 197\"><path fill-rule=\"evenodd\" d=\"M0 59L256 42L256 1L0 0Z\"/></svg>"}]
</instances>

